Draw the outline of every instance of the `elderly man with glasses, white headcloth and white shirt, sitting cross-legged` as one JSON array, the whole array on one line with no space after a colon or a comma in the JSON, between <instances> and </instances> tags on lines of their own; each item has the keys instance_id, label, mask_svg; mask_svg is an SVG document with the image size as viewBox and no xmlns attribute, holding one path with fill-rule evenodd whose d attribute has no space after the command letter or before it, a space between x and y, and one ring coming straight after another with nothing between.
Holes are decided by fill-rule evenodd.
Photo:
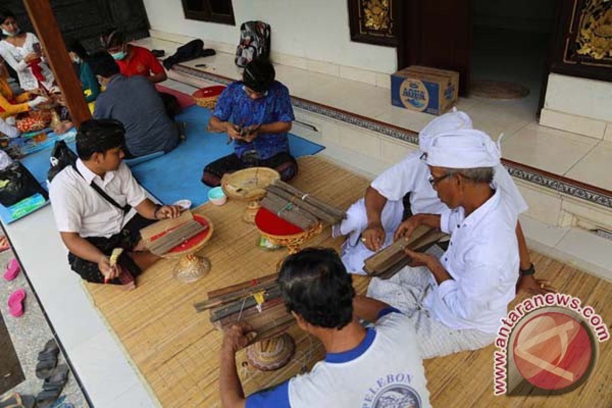
<instances>
[{"instance_id":1,"label":"elderly man with glasses, white headcloth and white shirt, sitting cross-legged","mask_svg":"<svg viewBox=\"0 0 612 408\"><path fill-rule=\"evenodd\" d=\"M512 198L495 188L501 154L483 135L463 129L431 140L429 182L448 208L414 215L395 234L439 228L450 234L447 251L437 258L406 250L411 265L389 280L374 278L368 288L369 297L411 316L424 358L490 344L515 297L518 213Z\"/></svg>"}]
</instances>

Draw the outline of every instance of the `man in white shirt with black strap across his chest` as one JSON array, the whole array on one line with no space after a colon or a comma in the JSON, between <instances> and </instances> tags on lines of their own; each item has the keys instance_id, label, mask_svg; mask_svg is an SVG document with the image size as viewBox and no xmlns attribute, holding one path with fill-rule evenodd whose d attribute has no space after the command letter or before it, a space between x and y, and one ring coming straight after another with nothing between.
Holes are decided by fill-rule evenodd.
<instances>
[{"instance_id":1,"label":"man in white shirt with black strap across his chest","mask_svg":"<svg viewBox=\"0 0 612 408\"><path fill-rule=\"evenodd\" d=\"M92 283L133 289L134 276L159 259L144 249L140 229L155 220L176 218L181 209L146 198L122 163L124 143L121 122L83 122L76 135L79 159L54 177L49 195L72 270ZM111 265L114 248L124 252Z\"/></svg>"}]
</instances>

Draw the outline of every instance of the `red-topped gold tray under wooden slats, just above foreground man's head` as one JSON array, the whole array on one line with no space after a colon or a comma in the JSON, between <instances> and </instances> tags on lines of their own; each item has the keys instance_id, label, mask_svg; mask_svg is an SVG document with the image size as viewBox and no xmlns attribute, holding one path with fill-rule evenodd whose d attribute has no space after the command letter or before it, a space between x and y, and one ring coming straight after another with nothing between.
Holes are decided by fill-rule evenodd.
<instances>
[{"instance_id":1,"label":"red-topped gold tray under wooden slats, just above foreground man's head","mask_svg":"<svg viewBox=\"0 0 612 408\"><path fill-rule=\"evenodd\" d=\"M321 221L304 231L264 208L259 209L256 213L255 226L261 232L261 235L269 239L270 242L287 247L290 254L299 251L302 243L323 231Z\"/></svg>"}]
</instances>

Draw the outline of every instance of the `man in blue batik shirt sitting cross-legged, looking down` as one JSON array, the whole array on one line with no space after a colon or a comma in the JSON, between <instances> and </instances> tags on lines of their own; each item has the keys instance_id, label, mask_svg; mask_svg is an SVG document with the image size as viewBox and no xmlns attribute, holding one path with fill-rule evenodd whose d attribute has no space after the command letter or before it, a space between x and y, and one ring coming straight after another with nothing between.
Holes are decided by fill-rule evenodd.
<instances>
[{"instance_id":1,"label":"man in blue batik shirt sitting cross-legged, looking down","mask_svg":"<svg viewBox=\"0 0 612 408\"><path fill-rule=\"evenodd\" d=\"M219 97L210 127L227 132L234 141L234 153L204 168L204 184L216 187L224 174L250 166L275 169L285 181L297 174L287 138L295 119L291 98L287 87L274 78L271 62L253 59L245 67L242 81L230 84Z\"/></svg>"}]
</instances>

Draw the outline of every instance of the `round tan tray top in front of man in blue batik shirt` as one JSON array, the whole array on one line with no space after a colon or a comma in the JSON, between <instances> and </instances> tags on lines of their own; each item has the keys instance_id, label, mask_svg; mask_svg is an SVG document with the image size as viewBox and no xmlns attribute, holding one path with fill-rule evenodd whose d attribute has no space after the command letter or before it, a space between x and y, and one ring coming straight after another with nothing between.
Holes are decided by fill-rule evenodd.
<instances>
[{"instance_id":1,"label":"round tan tray top in front of man in blue batik shirt","mask_svg":"<svg viewBox=\"0 0 612 408\"><path fill-rule=\"evenodd\" d=\"M266 187L280 174L267 167L252 167L226 174L221 180L221 187L229 198L241 201L258 201L266 195Z\"/></svg>"}]
</instances>

